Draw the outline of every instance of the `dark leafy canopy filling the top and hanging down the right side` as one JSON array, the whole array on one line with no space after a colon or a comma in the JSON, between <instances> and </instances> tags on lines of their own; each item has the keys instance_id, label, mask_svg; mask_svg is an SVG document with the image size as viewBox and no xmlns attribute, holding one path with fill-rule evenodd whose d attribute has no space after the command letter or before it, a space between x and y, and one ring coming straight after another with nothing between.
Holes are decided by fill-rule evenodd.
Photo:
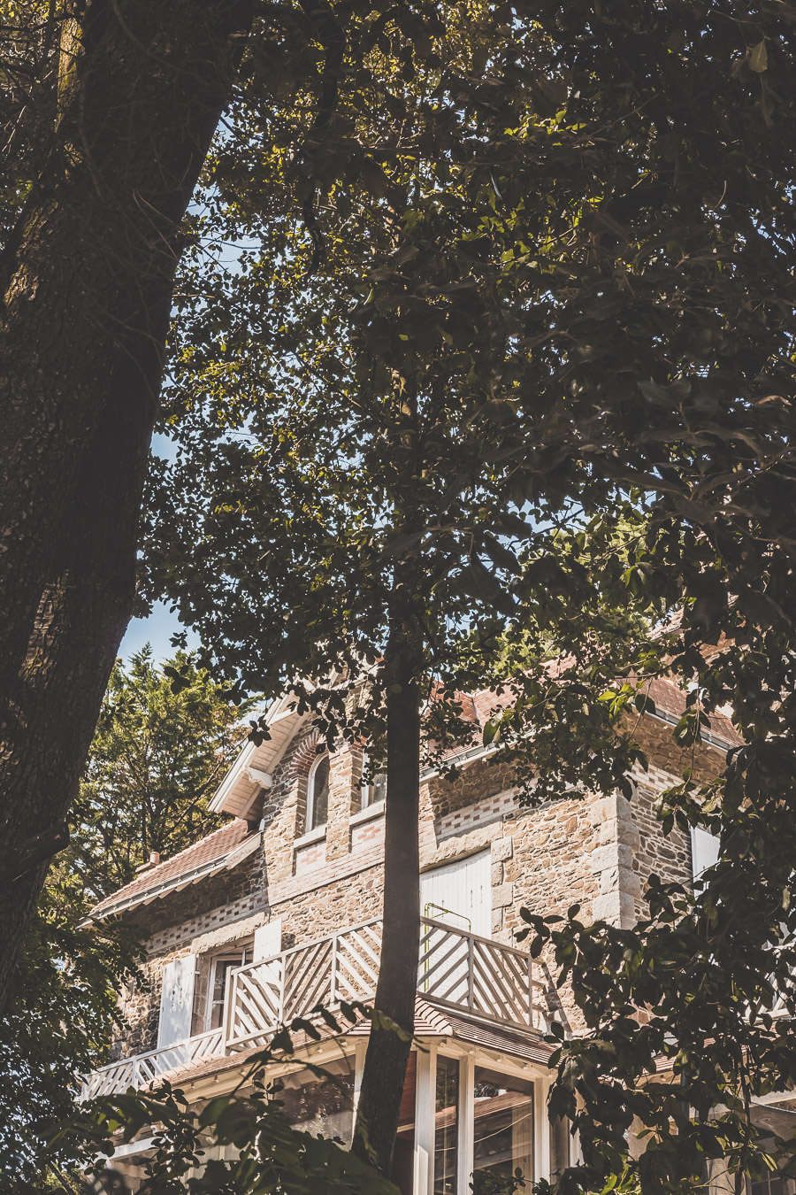
<instances>
[{"instance_id":1,"label":"dark leafy canopy filling the top and hanging down the right side","mask_svg":"<svg viewBox=\"0 0 796 1195\"><path fill-rule=\"evenodd\" d=\"M220 675L366 673L366 710L313 697L331 734L426 686L455 735L514 637L488 736L529 799L622 784L654 675L685 746L734 710L726 776L661 808L721 834L706 894L532 926L590 1024L561 1047L568 1190L754 1169L749 1101L796 1071L765 1011L773 975L796 1012L795 36L789 0L258 11L186 229L144 584Z\"/></svg>"}]
</instances>

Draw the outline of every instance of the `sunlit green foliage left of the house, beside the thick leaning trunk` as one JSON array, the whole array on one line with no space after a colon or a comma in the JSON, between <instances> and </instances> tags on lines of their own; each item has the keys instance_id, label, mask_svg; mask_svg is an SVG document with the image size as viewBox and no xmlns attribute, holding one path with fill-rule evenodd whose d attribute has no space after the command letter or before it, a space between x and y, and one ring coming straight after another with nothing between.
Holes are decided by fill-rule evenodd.
<instances>
[{"instance_id":1,"label":"sunlit green foliage left of the house, beside the thick leaning trunk","mask_svg":"<svg viewBox=\"0 0 796 1195\"><path fill-rule=\"evenodd\" d=\"M45 1182L73 1154L45 1151L45 1126L73 1111L80 1078L103 1065L118 993L141 954L122 924L85 924L91 905L131 880L150 850L173 853L212 825L206 802L243 731L247 706L178 652L117 661L69 847L50 870L0 1036L0 1175ZM32 1189L32 1188L31 1188Z\"/></svg>"}]
</instances>

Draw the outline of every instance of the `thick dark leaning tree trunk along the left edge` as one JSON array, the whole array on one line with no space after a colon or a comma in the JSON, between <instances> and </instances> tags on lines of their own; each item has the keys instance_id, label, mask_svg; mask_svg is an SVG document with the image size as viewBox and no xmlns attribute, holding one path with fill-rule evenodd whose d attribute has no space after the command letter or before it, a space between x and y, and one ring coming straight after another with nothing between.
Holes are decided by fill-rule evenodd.
<instances>
[{"instance_id":1,"label":"thick dark leaning tree trunk along the left edge","mask_svg":"<svg viewBox=\"0 0 796 1195\"><path fill-rule=\"evenodd\" d=\"M0 1010L130 615L179 225L249 24L251 0L90 0L4 255Z\"/></svg>"}]
</instances>

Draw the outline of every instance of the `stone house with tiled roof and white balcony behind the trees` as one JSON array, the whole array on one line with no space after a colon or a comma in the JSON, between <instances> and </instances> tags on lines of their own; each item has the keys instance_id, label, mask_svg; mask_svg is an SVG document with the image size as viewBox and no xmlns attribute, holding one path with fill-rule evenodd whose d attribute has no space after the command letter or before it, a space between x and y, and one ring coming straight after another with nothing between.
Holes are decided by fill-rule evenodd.
<instances>
[{"instance_id":1,"label":"stone house with tiled roof and white balcony behind the trees","mask_svg":"<svg viewBox=\"0 0 796 1195\"><path fill-rule=\"evenodd\" d=\"M563 913L575 902L585 919L629 926L650 871L691 882L714 862L709 835L660 833L656 798L685 764L671 734L684 694L656 681L652 697L656 713L636 729L650 767L634 774L630 802L584 795L523 808L511 767L480 746L453 760L453 780L421 777L422 1049L412 1054L396 1146L405 1195L477 1195L517 1166L541 1178L569 1160L566 1126L550 1128L545 1115L543 1034L554 1017L568 1032L579 1024L545 960L531 963L514 931L522 907ZM465 699L474 741L493 698ZM87 1077L86 1096L167 1074L200 1104L237 1084L279 1023L319 1001L372 995L389 795L381 777L363 784L360 748L329 755L286 699L267 722L270 740L242 748L214 797L224 825L153 860L92 912L123 915L149 938L147 982L122 997L127 1034ZM726 718L711 723L695 762L715 774L738 740ZM365 1034L356 1025L300 1047L282 1076L295 1123L350 1135ZM302 1052L337 1071L351 1098L302 1070ZM132 1189L149 1146L144 1135L113 1159Z\"/></svg>"}]
</instances>

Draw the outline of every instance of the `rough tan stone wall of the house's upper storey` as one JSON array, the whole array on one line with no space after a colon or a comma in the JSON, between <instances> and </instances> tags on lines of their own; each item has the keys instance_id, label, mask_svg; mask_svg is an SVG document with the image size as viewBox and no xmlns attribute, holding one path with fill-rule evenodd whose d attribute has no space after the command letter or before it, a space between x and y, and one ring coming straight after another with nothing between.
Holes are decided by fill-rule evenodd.
<instances>
[{"instance_id":1,"label":"rough tan stone wall of the house's upper storey","mask_svg":"<svg viewBox=\"0 0 796 1195\"><path fill-rule=\"evenodd\" d=\"M581 905L585 920L629 926L643 911L650 871L690 882L690 844L661 834L660 792L692 762L678 750L671 727L646 717L637 733L649 771L634 773L633 801L619 795L547 802L522 808L511 766L488 755L467 761L453 780L431 776L421 785L420 854L424 870L488 848L492 860L492 933L511 943L519 909L566 913ZM322 744L321 744L322 746ZM193 1031L202 1031L212 951L253 937L282 920L283 949L381 915L383 805L360 809L362 752L345 744L331 760L328 820L307 832L308 776L317 758L314 731L298 733L264 791L260 847L232 871L171 891L128 915L150 933L146 982L123 994L128 1031L115 1053L156 1044L163 966L186 954L199 958ZM723 762L701 748L695 767L715 773ZM549 967L550 960L542 960ZM564 1001L566 1004L566 1001Z\"/></svg>"}]
</instances>

